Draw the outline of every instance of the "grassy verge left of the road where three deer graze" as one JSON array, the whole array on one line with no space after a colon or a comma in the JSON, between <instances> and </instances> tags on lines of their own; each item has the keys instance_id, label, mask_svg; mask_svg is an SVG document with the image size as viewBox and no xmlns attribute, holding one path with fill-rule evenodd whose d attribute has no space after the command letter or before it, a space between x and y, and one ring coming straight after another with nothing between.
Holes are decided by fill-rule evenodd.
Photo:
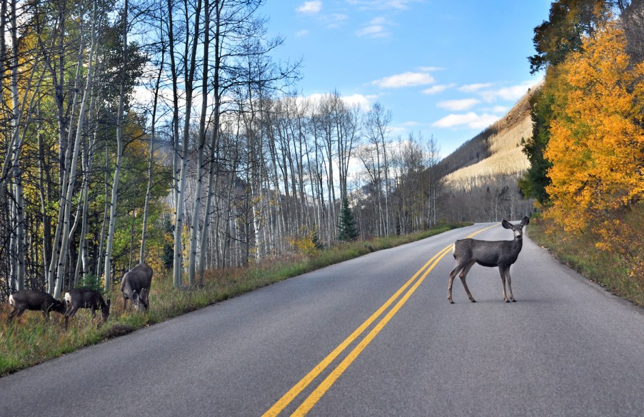
<instances>
[{"instance_id":1,"label":"grassy verge left of the road where three deer graze","mask_svg":"<svg viewBox=\"0 0 644 417\"><path fill-rule=\"evenodd\" d=\"M42 314L36 311L25 312L9 326L7 315L11 308L4 304L0 306L0 376L292 276L357 258L369 252L418 241L468 224L471 223L443 224L406 236L343 243L316 251L311 256L293 256L247 268L209 271L204 277L204 285L195 289L174 288L171 276L156 272L150 294L151 310L148 313L124 313L121 294L118 288L115 288L116 291L113 291L110 297L112 308L109 321L98 327L98 318L92 323L91 314L86 309L79 311L71 322L69 331L64 331L64 318L61 315L51 313L51 321L48 323L44 321ZM100 312L97 313L98 316Z\"/></svg>"}]
</instances>

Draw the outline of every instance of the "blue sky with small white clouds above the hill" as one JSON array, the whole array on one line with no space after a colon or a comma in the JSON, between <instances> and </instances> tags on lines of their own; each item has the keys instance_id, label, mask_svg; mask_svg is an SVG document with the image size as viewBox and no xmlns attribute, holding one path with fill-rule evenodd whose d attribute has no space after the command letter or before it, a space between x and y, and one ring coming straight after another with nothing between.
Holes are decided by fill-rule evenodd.
<instances>
[{"instance_id":1,"label":"blue sky with small white clouds above the hill","mask_svg":"<svg viewBox=\"0 0 644 417\"><path fill-rule=\"evenodd\" d=\"M432 136L446 156L503 117L530 75L549 0L268 0L276 59L303 59L303 96L337 90L391 110L393 135Z\"/></svg>"}]
</instances>

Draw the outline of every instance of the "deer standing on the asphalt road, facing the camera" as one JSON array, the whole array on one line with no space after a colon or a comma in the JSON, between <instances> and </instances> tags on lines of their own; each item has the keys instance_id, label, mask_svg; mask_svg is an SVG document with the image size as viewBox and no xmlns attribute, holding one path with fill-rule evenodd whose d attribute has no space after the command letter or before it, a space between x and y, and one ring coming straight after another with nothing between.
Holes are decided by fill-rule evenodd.
<instances>
[{"instance_id":1,"label":"deer standing on the asphalt road, facing the camera","mask_svg":"<svg viewBox=\"0 0 644 417\"><path fill-rule=\"evenodd\" d=\"M450 281L447 287L447 299L450 303L452 300L452 283L456 274L460 272L461 282L465 288L470 301L476 303L476 300L470 293L468 284L466 283L466 276L474 263L483 266L498 266L501 274L501 281L503 281L503 299L506 303L510 300L515 302L512 295L512 281L510 281L510 265L515 263L516 258L519 256L521 247L523 246L523 227L528 224L530 219L526 216L521 223L512 224L509 221L503 220L501 225L504 228L509 228L514 232L514 240L512 241L478 241L476 239L461 239L456 241L453 246L454 258L456 259L456 268L450 272ZM510 298L505 293L505 278L508 278L508 289L510 290Z\"/></svg>"}]
</instances>

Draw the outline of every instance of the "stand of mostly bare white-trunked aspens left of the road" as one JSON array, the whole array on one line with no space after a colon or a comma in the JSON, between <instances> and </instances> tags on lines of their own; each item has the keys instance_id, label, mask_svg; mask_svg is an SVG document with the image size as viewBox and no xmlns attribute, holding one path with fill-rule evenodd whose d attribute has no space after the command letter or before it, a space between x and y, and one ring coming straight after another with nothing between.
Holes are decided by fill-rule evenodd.
<instances>
[{"instance_id":1,"label":"stand of mostly bare white-trunked aspens left of the road","mask_svg":"<svg viewBox=\"0 0 644 417\"><path fill-rule=\"evenodd\" d=\"M433 138L297 93L261 0L16 1L0 11L0 294L173 285L438 221Z\"/></svg>"}]
</instances>

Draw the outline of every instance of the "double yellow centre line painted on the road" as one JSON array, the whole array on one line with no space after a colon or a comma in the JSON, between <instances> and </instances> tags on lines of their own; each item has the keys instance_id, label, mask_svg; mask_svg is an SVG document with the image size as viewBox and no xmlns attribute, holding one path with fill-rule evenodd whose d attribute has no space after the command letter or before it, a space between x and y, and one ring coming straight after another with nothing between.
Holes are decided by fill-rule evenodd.
<instances>
[{"instance_id":1,"label":"double yellow centre line painted on the road","mask_svg":"<svg viewBox=\"0 0 644 417\"><path fill-rule=\"evenodd\" d=\"M497 226L498 223L493 224L490 227L483 228L481 230L478 230L474 233L471 233L468 238L471 238L475 236L478 233L481 233L482 231L486 231L489 228L493 228L494 226ZM420 268L416 273L413 274L413 276L407 281L401 288L396 291L396 293L389 298L386 303L384 303L378 310L376 310L375 313L371 315L371 317L367 318L364 323L362 323L358 328L356 328L353 333L351 333L348 338L346 338L342 343L338 345L331 353L326 356L320 363L316 365L315 368L311 369L309 373L304 376L298 383L296 383L293 388L288 390L287 393L285 393L282 398L280 398L271 408L266 411L266 413L263 413L263 417L270 417L270 416L277 416L281 411L288 406L313 380L315 380L320 373L322 373L333 361L336 360L336 358L349 346L353 341L356 340L359 336L361 336L364 331L366 331L367 328L373 324L373 322L378 319L378 317L381 316L381 314L387 310L403 293L404 291L407 290L408 287L409 290L405 295L398 300L398 303L396 303L391 310L388 311L386 316L384 316L381 321L374 326L371 331L365 336L360 343L358 343L358 346L353 348L353 351L348 353L348 355L341 361L341 363L336 366L331 373L324 378L324 380L318 385L318 387L313 390L313 392L306 398L306 400L301 403L301 405L296 409L296 411L292 414L292 416L305 416L308 411L313 408L313 406L316 405L318 401L320 401L320 398L328 391L328 388L331 388L333 383L336 382L338 378L346 371L346 369L353 363L353 361L356 360L358 355L368 346L369 343L375 338L378 333L383 329L384 326L393 318L393 316L398 313L398 310L401 309L401 307L407 302L409 297L416 291L416 288L421 285L423 281L425 281L425 278L429 275L429 273L433 270L433 268L436 267L439 261L443 258L443 256L446 256L446 254L451 250L453 244L446 246L445 248L441 249L436 255L434 255L425 265L423 265L422 268ZM423 273L423 271L425 271ZM422 273L422 275L421 275ZM421 278L418 278L420 276ZM418 280L416 279L418 278ZM416 281L416 283L414 283ZM413 284L413 286L412 286Z\"/></svg>"}]
</instances>

